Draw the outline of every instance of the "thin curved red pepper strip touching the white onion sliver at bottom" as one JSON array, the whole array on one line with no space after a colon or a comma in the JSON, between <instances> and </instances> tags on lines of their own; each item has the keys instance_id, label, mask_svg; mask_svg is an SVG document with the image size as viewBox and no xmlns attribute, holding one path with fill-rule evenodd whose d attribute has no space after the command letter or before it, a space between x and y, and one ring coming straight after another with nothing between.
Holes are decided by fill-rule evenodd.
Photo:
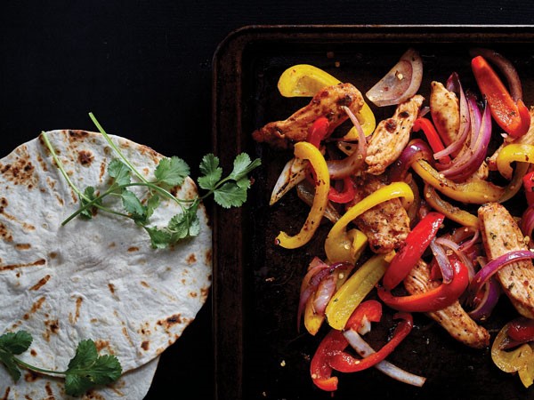
<instances>
[{"instance_id":1,"label":"thin curved red pepper strip touching the white onion sliver at bottom","mask_svg":"<svg viewBox=\"0 0 534 400\"><path fill-rule=\"evenodd\" d=\"M414 326L413 317L409 313L397 313L393 317L395 319L402 318L403 321L395 327L392 339L383 348L364 358L355 358L346 352L334 354L329 358L330 366L339 372L359 372L384 361L399 346L401 341L408 336Z\"/></svg>"}]
</instances>

